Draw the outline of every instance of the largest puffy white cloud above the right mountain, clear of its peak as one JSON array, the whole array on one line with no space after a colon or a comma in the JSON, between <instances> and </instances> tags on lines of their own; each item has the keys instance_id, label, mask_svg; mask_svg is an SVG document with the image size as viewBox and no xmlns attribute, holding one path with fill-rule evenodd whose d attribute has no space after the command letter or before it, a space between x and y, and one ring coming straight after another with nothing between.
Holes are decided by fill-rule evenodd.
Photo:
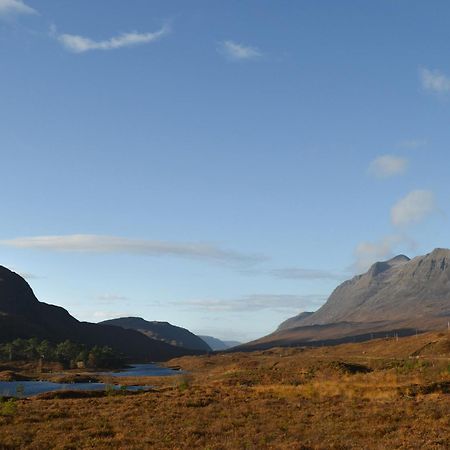
<instances>
[{"instance_id":1,"label":"largest puffy white cloud above the right mountain, clear of its peak","mask_svg":"<svg viewBox=\"0 0 450 450\"><path fill-rule=\"evenodd\" d=\"M391 221L397 227L405 227L420 222L436 211L436 199L431 191L411 191L392 207Z\"/></svg>"}]
</instances>

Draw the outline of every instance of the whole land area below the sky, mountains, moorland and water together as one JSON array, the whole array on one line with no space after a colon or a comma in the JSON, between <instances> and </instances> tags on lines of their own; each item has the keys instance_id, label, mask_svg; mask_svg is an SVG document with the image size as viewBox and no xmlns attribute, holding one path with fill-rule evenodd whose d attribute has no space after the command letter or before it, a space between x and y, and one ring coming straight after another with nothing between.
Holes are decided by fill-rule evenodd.
<instances>
[{"instance_id":1,"label":"whole land area below the sky, mountains, moorland and water together","mask_svg":"<svg viewBox=\"0 0 450 450\"><path fill-rule=\"evenodd\" d=\"M449 260L375 263L231 348L139 317L78 322L0 267L0 448L448 448Z\"/></svg>"}]
</instances>

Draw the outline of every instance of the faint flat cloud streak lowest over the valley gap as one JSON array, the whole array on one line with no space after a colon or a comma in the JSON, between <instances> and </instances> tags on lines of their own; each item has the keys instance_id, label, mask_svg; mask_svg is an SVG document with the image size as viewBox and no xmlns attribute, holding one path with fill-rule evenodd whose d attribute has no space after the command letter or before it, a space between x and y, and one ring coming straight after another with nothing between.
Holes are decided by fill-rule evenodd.
<instances>
[{"instance_id":1,"label":"faint flat cloud streak lowest over the valley gap","mask_svg":"<svg viewBox=\"0 0 450 450\"><path fill-rule=\"evenodd\" d=\"M237 299L194 299L174 303L178 307L210 312L293 311L316 309L326 300L322 295L253 294Z\"/></svg>"}]
</instances>

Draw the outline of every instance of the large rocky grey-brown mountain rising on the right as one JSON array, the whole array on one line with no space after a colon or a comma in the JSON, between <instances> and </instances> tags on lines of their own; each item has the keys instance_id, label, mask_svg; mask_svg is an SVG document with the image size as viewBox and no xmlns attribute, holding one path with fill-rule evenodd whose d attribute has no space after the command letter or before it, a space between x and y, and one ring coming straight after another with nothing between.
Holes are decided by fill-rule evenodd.
<instances>
[{"instance_id":1,"label":"large rocky grey-brown mountain rising on the right","mask_svg":"<svg viewBox=\"0 0 450 450\"><path fill-rule=\"evenodd\" d=\"M450 250L437 248L412 260L399 255L373 264L338 286L318 311L288 319L271 335L243 347L413 334L446 328L449 319Z\"/></svg>"}]
</instances>

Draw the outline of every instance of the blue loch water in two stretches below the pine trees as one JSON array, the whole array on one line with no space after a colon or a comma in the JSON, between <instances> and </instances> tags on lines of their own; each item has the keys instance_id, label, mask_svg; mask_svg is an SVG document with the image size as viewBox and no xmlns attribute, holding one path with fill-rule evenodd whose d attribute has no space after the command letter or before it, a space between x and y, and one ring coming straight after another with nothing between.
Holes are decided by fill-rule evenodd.
<instances>
[{"instance_id":1,"label":"blue loch water in two stretches below the pine trees","mask_svg":"<svg viewBox=\"0 0 450 450\"><path fill-rule=\"evenodd\" d=\"M181 372L159 367L156 364L137 364L120 372L103 372L100 375L111 377L162 377L177 375ZM104 383L52 383L50 381L0 381L0 396L32 397L33 395L53 391L102 391L106 388L120 389ZM127 386L128 391L150 389L150 386Z\"/></svg>"}]
</instances>

